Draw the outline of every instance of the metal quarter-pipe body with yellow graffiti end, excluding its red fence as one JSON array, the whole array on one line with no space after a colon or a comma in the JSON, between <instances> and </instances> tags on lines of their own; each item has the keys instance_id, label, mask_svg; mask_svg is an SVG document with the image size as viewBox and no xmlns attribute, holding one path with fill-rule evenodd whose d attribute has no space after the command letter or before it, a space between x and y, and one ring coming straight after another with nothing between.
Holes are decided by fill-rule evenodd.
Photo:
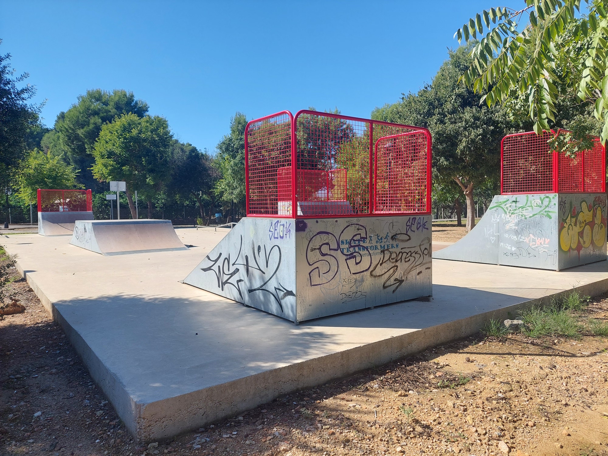
<instances>
[{"instance_id":1,"label":"metal quarter-pipe body with yellow graffiti end, excluding its red fence","mask_svg":"<svg viewBox=\"0 0 608 456\"><path fill-rule=\"evenodd\" d=\"M560 271L606 260L606 193L497 195L441 260Z\"/></svg>"}]
</instances>

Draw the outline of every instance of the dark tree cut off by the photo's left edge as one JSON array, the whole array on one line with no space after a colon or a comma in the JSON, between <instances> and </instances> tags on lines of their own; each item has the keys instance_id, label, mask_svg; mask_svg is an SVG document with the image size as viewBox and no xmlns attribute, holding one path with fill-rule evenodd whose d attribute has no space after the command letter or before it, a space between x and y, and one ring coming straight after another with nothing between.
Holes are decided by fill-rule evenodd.
<instances>
[{"instance_id":1,"label":"dark tree cut off by the photo's left edge","mask_svg":"<svg viewBox=\"0 0 608 456\"><path fill-rule=\"evenodd\" d=\"M27 103L36 94L33 86L19 87L29 74L15 76L9 60L10 54L0 55L0 188L5 192L5 227L9 225L8 190L27 154L29 132L38 123L41 108Z\"/></svg>"}]
</instances>

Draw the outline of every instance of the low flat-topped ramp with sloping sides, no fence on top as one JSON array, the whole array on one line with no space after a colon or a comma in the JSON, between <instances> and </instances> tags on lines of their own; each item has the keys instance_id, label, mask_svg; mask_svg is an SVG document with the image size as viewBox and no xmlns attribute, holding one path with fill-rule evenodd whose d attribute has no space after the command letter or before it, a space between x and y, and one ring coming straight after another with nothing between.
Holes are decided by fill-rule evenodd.
<instances>
[{"instance_id":1,"label":"low flat-topped ramp with sloping sides, no fence on top","mask_svg":"<svg viewBox=\"0 0 608 456\"><path fill-rule=\"evenodd\" d=\"M78 220L70 244L102 255L187 250L170 220Z\"/></svg>"}]
</instances>

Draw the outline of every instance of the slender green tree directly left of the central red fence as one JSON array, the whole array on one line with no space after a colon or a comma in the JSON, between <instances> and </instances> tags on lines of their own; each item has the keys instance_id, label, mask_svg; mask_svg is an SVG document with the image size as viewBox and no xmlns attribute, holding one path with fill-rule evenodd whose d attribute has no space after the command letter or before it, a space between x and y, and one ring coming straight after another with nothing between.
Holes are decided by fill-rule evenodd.
<instances>
[{"instance_id":1,"label":"slender green tree directly left of the central red fence","mask_svg":"<svg viewBox=\"0 0 608 456\"><path fill-rule=\"evenodd\" d=\"M217 145L215 156L221 178L215 185L218 197L230 206L231 220L234 221L234 209L245 204L245 127L247 117L238 112L230 119L230 134L227 134Z\"/></svg>"}]
</instances>

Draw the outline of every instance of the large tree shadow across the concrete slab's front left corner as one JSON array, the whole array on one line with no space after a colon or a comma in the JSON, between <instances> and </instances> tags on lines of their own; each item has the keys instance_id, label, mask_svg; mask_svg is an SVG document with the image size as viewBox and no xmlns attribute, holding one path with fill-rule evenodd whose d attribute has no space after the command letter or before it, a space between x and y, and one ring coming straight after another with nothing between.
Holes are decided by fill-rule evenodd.
<instances>
[{"instance_id":1,"label":"large tree shadow across the concrete slab's front left corner","mask_svg":"<svg viewBox=\"0 0 608 456\"><path fill-rule=\"evenodd\" d=\"M143 402L322 356L339 344L334 334L223 299L106 295L55 307L64 325Z\"/></svg>"}]
</instances>

